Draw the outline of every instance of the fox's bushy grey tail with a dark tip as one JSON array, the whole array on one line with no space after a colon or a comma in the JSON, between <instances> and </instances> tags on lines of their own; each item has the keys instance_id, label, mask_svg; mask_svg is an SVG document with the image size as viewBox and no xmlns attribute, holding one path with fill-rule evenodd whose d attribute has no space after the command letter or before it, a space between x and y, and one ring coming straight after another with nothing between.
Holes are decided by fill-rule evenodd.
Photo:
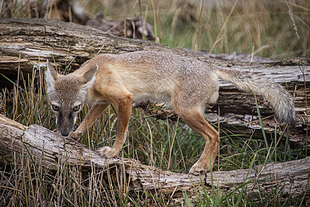
<instances>
[{"instance_id":1,"label":"fox's bushy grey tail with a dark tip","mask_svg":"<svg viewBox=\"0 0 310 207\"><path fill-rule=\"evenodd\" d=\"M262 95L271 103L276 118L279 121L285 121L289 125L295 126L293 97L278 83L251 72L236 70L218 69L216 70L216 75L219 79L233 83L240 90Z\"/></svg>"}]
</instances>

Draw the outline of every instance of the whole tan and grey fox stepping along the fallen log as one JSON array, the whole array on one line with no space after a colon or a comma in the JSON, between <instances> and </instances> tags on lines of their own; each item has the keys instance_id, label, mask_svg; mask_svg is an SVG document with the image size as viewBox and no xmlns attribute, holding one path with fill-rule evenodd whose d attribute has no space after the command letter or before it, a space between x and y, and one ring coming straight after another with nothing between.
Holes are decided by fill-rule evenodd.
<instances>
[{"instance_id":1,"label":"whole tan and grey fox stepping along the fallen log","mask_svg":"<svg viewBox=\"0 0 310 207\"><path fill-rule=\"evenodd\" d=\"M117 114L112 147L99 148L106 158L117 157L126 138L136 101L165 102L192 130L205 139L203 153L190 168L192 175L210 172L218 155L219 134L203 116L206 103L218 99L219 79L245 92L261 95L271 104L276 119L296 123L293 97L283 86L252 72L229 70L173 52L143 50L118 55L97 55L68 75L60 75L47 61L45 83L56 128L63 137L79 140L112 104ZM74 130L85 103L92 108Z\"/></svg>"}]
</instances>

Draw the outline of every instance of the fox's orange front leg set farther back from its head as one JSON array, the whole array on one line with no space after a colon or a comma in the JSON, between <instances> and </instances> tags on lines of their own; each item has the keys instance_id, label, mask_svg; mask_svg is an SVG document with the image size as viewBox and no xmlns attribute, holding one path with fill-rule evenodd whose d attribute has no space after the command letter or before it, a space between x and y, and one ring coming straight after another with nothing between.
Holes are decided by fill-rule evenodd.
<instances>
[{"instance_id":1,"label":"fox's orange front leg set farther back from its head","mask_svg":"<svg viewBox=\"0 0 310 207\"><path fill-rule=\"evenodd\" d=\"M112 148L105 146L98 150L100 155L103 157L117 157L118 152L121 151L125 141L128 124L130 121L130 112L132 110L133 96L132 94L126 94L121 97L121 99L116 99L116 101L113 102L114 108L117 112L116 139Z\"/></svg>"}]
</instances>

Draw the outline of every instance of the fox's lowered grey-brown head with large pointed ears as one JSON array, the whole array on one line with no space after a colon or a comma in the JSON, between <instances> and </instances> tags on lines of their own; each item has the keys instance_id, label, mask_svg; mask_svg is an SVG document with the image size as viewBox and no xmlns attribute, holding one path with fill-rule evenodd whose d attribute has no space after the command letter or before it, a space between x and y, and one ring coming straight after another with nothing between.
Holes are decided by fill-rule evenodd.
<instances>
[{"instance_id":1,"label":"fox's lowered grey-brown head with large pointed ears","mask_svg":"<svg viewBox=\"0 0 310 207\"><path fill-rule=\"evenodd\" d=\"M45 82L48 101L56 117L57 130L64 137L74 131L76 116L85 104L88 88L96 79L97 68L94 66L82 75L59 75L50 62L47 63Z\"/></svg>"}]
</instances>

